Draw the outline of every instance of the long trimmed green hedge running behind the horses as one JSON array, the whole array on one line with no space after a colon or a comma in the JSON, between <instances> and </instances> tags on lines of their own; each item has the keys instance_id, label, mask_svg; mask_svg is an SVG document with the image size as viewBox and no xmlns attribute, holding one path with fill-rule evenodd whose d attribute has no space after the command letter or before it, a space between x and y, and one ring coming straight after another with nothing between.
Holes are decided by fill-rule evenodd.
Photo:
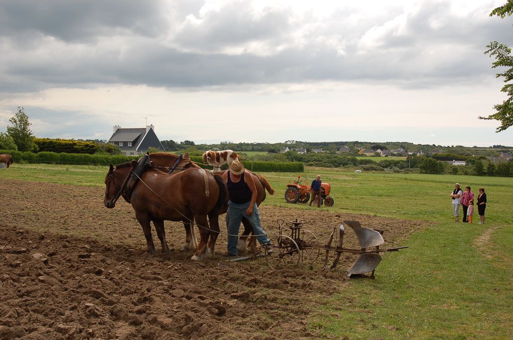
<instances>
[{"instance_id":1,"label":"long trimmed green hedge running behind the horses","mask_svg":"<svg viewBox=\"0 0 513 340\"><path fill-rule=\"evenodd\" d=\"M87 153L56 153L56 152L21 152L14 150L0 150L0 154L8 153L14 158L15 163L50 163L50 164L82 164L82 165L109 165L130 162L132 159L139 159L139 156L125 155L96 155ZM201 156L192 156L191 160L198 163L205 169L212 169L211 166L202 165ZM243 162L248 170L252 171L275 171L275 172L303 172L304 166L300 162L275 163L275 162ZM226 169L224 165L222 168Z\"/></svg>"}]
</instances>

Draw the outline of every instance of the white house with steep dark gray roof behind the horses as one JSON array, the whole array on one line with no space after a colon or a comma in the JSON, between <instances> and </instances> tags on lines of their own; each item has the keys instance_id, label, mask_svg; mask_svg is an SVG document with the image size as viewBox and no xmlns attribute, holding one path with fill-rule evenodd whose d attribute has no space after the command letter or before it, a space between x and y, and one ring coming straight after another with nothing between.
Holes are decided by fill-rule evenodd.
<instances>
[{"instance_id":1,"label":"white house with steep dark gray roof behind the horses","mask_svg":"<svg viewBox=\"0 0 513 340\"><path fill-rule=\"evenodd\" d=\"M123 129L119 125L113 128L112 136L107 143L117 145L126 156L146 153L150 147L164 151L164 147L155 134L153 125L146 128Z\"/></svg>"}]
</instances>

